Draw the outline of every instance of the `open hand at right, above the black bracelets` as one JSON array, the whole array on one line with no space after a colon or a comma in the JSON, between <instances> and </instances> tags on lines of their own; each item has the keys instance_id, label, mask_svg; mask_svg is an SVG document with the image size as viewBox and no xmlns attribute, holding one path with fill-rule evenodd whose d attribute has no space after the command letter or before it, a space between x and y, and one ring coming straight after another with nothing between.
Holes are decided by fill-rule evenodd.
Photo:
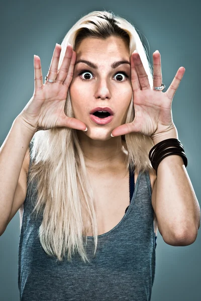
<instances>
[{"instance_id":1,"label":"open hand at right, above the black bracelets","mask_svg":"<svg viewBox=\"0 0 201 301\"><path fill-rule=\"evenodd\" d=\"M164 93L150 87L148 76L144 70L142 61L137 52L131 55L131 82L133 88L133 100L135 118L131 123L125 123L116 127L112 134L119 136L131 132L142 133L153 140L175 130L172 120L171 103L174 94L185 72L180 67L167 91ZM162 84L161 58L159 52L153 53L153 86Z\"/></svg>"}]
</instances>

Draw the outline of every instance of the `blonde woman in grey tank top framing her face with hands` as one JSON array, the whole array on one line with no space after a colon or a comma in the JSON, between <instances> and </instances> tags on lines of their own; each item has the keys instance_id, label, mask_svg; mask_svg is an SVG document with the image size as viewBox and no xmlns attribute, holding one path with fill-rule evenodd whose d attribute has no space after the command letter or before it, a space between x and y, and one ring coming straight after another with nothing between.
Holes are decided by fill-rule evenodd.
<instances>
[{"instance_id":1,"label":"blonde woman in grey tank top framing her face with hands","mask_svg":"<svg viewBox=\"0 0 201 301\"><path fill-rule=\"evenodd\" d=\"M69 44L70 43L70 44ZM150 300L157 228L189 245L200 209L171 102L128 21L82 17L0 152L1 234L20 209L21 300Z\"/></svg>"}]
</instances>

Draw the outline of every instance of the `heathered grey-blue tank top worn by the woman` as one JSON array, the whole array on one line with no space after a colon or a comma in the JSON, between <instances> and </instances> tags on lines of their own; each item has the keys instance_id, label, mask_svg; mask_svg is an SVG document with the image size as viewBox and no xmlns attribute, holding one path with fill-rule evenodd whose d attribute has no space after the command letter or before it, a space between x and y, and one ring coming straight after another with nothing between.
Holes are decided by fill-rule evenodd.
<instances>
[{"instance_id":1,"label":"heathered grey-blue tank top worn by the woman","mask_svg":"<svg viewBox=\"0 0 201 301\"><path fill-rule=\"evenodd\" d=\"M30 165L32 160L30 159ZM29 174L28 174L29 177ZM155 276L154 215L149 173L139 173L130 205L122 220L98 235L88 236L84 263L48 256L38 238L42 214L30 215L36 183L27 190L19 241L18 286L21 301L150 301ZM33 202L34 203L34 202Z\"/></svg>"}]
</instances>

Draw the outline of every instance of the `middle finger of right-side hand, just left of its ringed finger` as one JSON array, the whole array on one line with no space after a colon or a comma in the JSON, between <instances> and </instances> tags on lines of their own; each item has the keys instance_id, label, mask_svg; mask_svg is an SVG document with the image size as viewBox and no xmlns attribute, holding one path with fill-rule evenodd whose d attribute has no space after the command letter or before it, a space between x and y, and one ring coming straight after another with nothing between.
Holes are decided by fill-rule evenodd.
<instances>
[{"instance_id":1,"label":"middle finger of right-side hand, just left of its ringed finger","mask_svg":"<svg viewBox=\"0 0 201 301\"><path fill-rule=\"evenodd\" d=\"M142 64L140 55L138 53L134 53L133 55L133 61L135 64L135 68L137 71L137 75L138 75L138 79L141 85L141 89L145 90L145 89L150 89L150 85L149 85L149 80L148 80L148 75L145 72L144 66Z\"/></svg>"}]
</instances>

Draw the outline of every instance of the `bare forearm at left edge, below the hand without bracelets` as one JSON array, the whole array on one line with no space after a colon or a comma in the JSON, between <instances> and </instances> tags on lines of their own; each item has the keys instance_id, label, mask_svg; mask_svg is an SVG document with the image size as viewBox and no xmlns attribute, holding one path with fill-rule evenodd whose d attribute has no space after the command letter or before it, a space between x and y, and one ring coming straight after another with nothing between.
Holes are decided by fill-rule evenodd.
<instances>
[{"instance_id":1,"label":"bare forearm at left edge, below the hand without bracelets","mask_svg":"<svg viewBox=\"0 0 201 301\"><path fill-rule=\"evenodd\" d=\"M12 211L23 161L33 135L31 126L18 116L0 148L0 235Z\"/></svg>"}]
</instances>

